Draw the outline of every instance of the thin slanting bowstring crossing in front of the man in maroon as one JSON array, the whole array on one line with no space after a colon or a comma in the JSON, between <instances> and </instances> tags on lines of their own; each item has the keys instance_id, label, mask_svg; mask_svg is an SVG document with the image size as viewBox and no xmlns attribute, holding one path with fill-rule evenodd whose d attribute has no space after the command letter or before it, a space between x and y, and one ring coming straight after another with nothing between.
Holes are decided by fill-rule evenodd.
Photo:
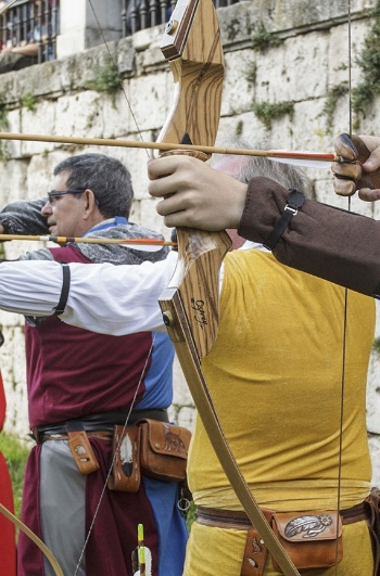
<instances>
[{"instance_id":1,"label":"thin slanting bowstring crossing in front of the man in maroon","mask_svg":"<svg viewBox=\"0 0 380 576\"><path fill-rule=\"evenodd\" d=\"M97 12L96 12L96 10L94 10L94 7L93 7L93 3L92 3L92 0L89 0L89 4L90 4L90 8L91 8L91 10L92 10L93 16L94 16L94 18L96 18L97 26L98 26L98 28L99 28L99 31L100 31L100 34L101 34L101 37L102 37L102 39L103 39L104 47L105 47L105 49L106 49L106 52L107 52L107 56L109 56L109 59L110 59L110 62L111 62L112 66L114 67L114 69L115 69L115 71L118 71L118 69L117 69L117 64L116 64L116 62L115 62L115 60L114 60L114 57L113 57L113 55L112 55L112 52L111 52L110 47L109 47L109 43L107 43L107 41L106 41L106 39L105 39L105 36L104 36L104 33L103 33L103 29L102 29L102 27L101 27L100 21L99 21L99 18L98 18L98 14L97 14ZM139 137L139 139L140 139L140 141L142 142L142 141L143 141L142 133L141 133L141 130L140 130L140 128L139 128L139 125L138 125L138 121L137 121L136 115L135 115L135 113L134 113L134 111L132 111L132 107L131 107L130 101L129 101L128 95L127 95L127 93L126 93L126 90L124 89L124 86L123 86L122 80L121 80L119 87L121 87L121 90L122 90L122 92L123 92L123 94L124 94L124 98L125 98L125 100L126 100L126 102L127 102L127 105L128 105L128 108L129 108L130 115L131 115L131 117L132 117L132 120L134 120L134 123L135 123L135 126L136 126L136 129L137 129L137 132L138 132L138 137ZM145 149L145 152L147 152L147 156L148 156L148 158L149 158L150 156L149 156L149 152L148 152L147 149ZM129 422L129 419L130 419L130 414L131 414L131 412L132 412L132 410L134 410L134 406L135 406L136 400L137 400L138 392L139 392L139 389L140 389L140 386L141 386L141 383L142 383L143 376L144 376L144 374L145 374L145 370L147 370L148 363L149 363L150 358L151 358L151 356L152 356L152 350L153 350L153 346L154 346L155 337L156 337L156 333L153 333L152 343L151 343L150 349L149 349L148 355L147 355L145 363L144 363L144 366L143 366L143 368L142 368L140 379L139 379L139 382L138 382L138 384L137 384L137 387L136 387L136 391L135 391L135 394L134 394L134 398L132 398L132 400L131 400L131 402L130 402L130 407L129 407L129 410L128 410L127 417L126 417L125 422L124 422L124 424L123 424L123 433L121 434L121 437L119 437L119 439L118 439L117 446L115 447L115 450L114 450L114 453L113 453L113 458L112 458L111 464L110 464L110 466L109 466L109 470L107 470L107 473L106 473L106 476L105 476L105 481L104 481L104 483L103 483L103 487L102 487L102 490L101 490L101 494L100 494L100 497L99 497L99 501L98 501L98 503L97 503L96 511L94 511L94 513L93 513L93 517L92 517L92 520L91 520L91 524L90 524L90 526L89 526L89 529L88 529L88 533L87 533L87 536L86 536L86 539L85 539L85 542L84 542L84 547L83 547L83 549L81 549L81 552L80 552L80 555L79 555L79 560L78 560L77 566L76 566L76 568L75 568L74 576L77 576L78 571L79 571L79 568L80 568L80 564L81 564L81 562L83 562L83 560L84 560L85 553L86 553L86 548L87 548L88 542L89 542L89 539L90 539L90 537L91 537L91 534L92 534L92 530L93 530L93 527L94 527L94 523L96 523L96 520L97 520L97 517L98 517L99 510L100 510L101 503L102 503L102 501L103 501L103 498L104 498L104 495L105 495L105 491L106 491L106 488L107 488L107 482L109 482L110 476L111 476L111 474L112 474L113 466L114 466L114 462L115 462L115 460L116 460L116 458L117 458L117 451L118 451L118 449L119 449L119 446L121 446L121 443L122 443L122 438L123 438L123 436L124 436L124 432L125 432L125 430L126 430L126 427L127 427L127 425L128 425L128 422Z\"/></svg>"}]
</instances>

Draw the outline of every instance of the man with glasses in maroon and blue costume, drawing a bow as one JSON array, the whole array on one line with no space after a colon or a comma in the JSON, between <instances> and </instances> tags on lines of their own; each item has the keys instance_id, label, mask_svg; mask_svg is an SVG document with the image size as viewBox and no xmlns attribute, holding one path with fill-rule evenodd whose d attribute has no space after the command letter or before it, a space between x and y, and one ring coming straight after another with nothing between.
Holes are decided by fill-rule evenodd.
<instances>
[{"instance_id":1,"label":"man with glasses in maroon and blue costume, drawing a bow","mask_svg":"<svg viewBox=\"0 0 380 576\"><path fill-rule=\"evenodd\" d=\"M72 241L29 252L21 259L122 265L166 257L166 247L142 252L123 244L74 241L77 236L162 239L128 222L134 191L129 171L119 161L79 154L61 162L53 174L54 190L48 197L9 205L0 213L0 229L49 232ZM140 418L167 421L174 358L168 336L152 332L100 335L52 316L28 317L25 338L29 424L37 446L26 466L23 521L42 537L64 574L81 576L131 574L131 552L141 523L152 553L147 574L180 576L187 528L177 507L178 484L143 477L136 494L105 489L102 496L112 460L113 425L125 424L130 410L128 424ZM71 438L78 435L81 440L74 440L72 451ZM18 576L30 574L53 572L21 534Z\"/></svg>"}]
</instances>

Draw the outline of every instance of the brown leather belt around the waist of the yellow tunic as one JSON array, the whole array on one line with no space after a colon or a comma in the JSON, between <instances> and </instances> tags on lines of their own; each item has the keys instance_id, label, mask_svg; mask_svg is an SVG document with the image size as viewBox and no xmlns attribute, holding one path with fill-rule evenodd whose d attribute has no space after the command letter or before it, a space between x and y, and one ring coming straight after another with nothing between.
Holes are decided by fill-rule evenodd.
<instances>
[{"instance_id":1,"label":"brown leather belt around the waist of the yellow tunic","mask_svg":"<svg viewBox=\"0 0 380 576\"><path fill-rule=\"evenodd\" d=\"M346 510L340 510L343 524L353 524L354 522L360 522L368 520L367 507L365 502L360 502ZM267 517L270 517L270 510L262 509L262 512ZM302 512L301 514L306 514ZM205 526L213 526L216 528L236 528L240 530L248 530L252 527L252 522L242 511L224 510L220 508L205 508L197 507L195 522L198 524L204 524Z\"/></svg>"}]
</instances>

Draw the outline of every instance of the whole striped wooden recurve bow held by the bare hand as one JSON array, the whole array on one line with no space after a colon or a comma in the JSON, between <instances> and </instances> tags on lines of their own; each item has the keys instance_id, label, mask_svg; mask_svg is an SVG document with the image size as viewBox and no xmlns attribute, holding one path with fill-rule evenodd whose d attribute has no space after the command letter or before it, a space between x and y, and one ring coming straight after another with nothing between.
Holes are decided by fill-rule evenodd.
<instances>
[{"instance_id":1,"label":"whole striped wooden recurve bow held by the bare hand","mask_svg":"<svg viewBox=\"0 0 380 576\"><path fill-rule=\"evenodd\" d=\"M179 0L162 50L170 61L176 93L160 141L213 144L220 113L224 59L212 0ZM165 324L200 418L237 497L283 574L299 575L241 474L201 368L201 358L217 336L219 268L230 239L226 232L193 229L179 229L177 235L178 265L160 298Z\"/></svg>"}]
</instances>

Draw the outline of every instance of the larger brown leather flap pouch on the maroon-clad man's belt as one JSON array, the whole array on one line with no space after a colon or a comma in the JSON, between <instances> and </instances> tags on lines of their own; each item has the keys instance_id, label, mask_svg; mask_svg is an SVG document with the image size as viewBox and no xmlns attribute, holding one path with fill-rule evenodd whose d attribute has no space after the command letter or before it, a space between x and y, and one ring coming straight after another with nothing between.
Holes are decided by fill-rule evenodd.
<instances>
[{"instance_id":1,"label":"larger brown leather flap pouch on the maroon-clad man's belt","mask_svg":"<svg viewBox=\"0 0 380 576\"><path fill-rule=\"evenodd\" d=\"M141 473L167 482L186 479L191 432L167 422L141 419Z\"/></svg>"}]
</instances>

